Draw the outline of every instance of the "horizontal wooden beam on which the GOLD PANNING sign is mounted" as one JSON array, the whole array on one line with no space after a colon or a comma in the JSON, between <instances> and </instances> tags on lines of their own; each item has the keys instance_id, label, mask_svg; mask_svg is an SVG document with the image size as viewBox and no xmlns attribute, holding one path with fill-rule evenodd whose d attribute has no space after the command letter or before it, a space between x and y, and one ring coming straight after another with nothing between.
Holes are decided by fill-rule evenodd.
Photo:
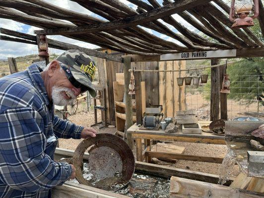
<instances>
[{"instance_id":1,"label":"horizontal wooden beam on which the GOLD PANNING sign is mounted","mask_svg":"<svg viewBox=\"0 0 264 198\"><path fill-rule=\"evenodd\" d=\"M221 50L215 50L215 52L221 52ZM230 56L228 58L241 58L241 57L262 57L264 54L264 48L243 48L243 49L236 49L236 55ZM163 54L166 55L166 54ZM161 61L160 55L154 56L145 56L145 55L130 55L132 62L149 62L149 61ZM194 60L194 59L211 59L206 57L200 58L172 58L168 60ZM217 58L226 58L226 57L217 57ZM164 60L165 61L165 60ZM166 60L167 61L167 60Z\"/></svg>"}]
</instances>

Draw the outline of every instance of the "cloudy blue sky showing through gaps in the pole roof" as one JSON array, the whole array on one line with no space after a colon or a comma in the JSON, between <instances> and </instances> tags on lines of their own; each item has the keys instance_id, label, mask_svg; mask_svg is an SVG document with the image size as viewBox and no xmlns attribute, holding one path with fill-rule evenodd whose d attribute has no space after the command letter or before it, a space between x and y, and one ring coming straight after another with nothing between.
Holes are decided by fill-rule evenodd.
<instances>
[{"instance_id":1,"label":"cloudy blue sky showing through gaps in the pole roof","mask_svg":"<svg viewBox=\"0 0 264 198\"><path fill-rule=\"evenodd\" d=\"M94 17L98 17L101 18L100 16L90 12L89 10L85 9L84 7L80 6L78 3L70 1L70 0L45 0L47 2L53 3L57 6L61 6L63 8L69 9L69 10L73 10L76 12L80 12L80 13L84 13L84 14L89 14L91 16ZM130 3L127 0L120 0L124 3L126 3L128 6L132 7L133 9L136 9L136 6L132 3ZM147 2L147 0L144 0ZM158 2L161 4L162 0L158 0ZM196 28L194 28L192 25L190 25L189 23L187 23L183 18L181 18L178 14L174 14L172 15L178 22L180 22L181 24L183 24L185 27L189 28L192 31L197 31ZM164 23L161 19L158 19L159 21L161 21L162 23ZM178 31L171 25L168 25L165 23L165 25L167 25L172 31L178 33ZM10 30L14 30L14 31L18 31L18 32L23 32L23 33L27 33L27 34L31 34L34 35L34 30L37 30L39 28L37 27L33 27L33 26L29 26L23 23L19 23L13 20L9 20L9 19L2 19L0 18L0 27L2 28L6 28L6 29L10 29ZM166 36L160 33L157 33L153 30L147 29L142 27L143 29L145 29L146 31L164 39L164 40L168 40L171 42L175 42L179 45L181 45L180 42ZM84 43L81 41L77 41L77 40L72 40L60 35L52 35L52 36L48 36L48 38L50 39L54 39L54 40L58 40L58 41L62 41L65 43L70 43L73 45L77 45L80 47L84 47L84 48L89 48L89 49L96 49L99 48L98 46L95 46L93 44L89 44L89 43ZM60 49L49 49L49 53L57 53L60 54L62 53L63 50ZM17 57L17 56L24 56L24 55L29 55L29 54L37 54L38 53L38 49L36 45L31 45L31 44L23 44L23 43L17 43L17 42L9 42L9 41L1 41L0 40L0 59L7 59L7 57Z\"/></svg>"}]
</instances>

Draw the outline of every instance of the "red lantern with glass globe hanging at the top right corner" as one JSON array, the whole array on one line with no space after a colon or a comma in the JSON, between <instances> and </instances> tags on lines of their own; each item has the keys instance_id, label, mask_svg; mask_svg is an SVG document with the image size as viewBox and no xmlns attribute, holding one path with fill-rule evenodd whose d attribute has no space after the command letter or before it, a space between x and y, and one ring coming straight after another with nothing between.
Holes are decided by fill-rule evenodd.
<instances>
[{"instance_id":1,"label":"red lantern with glass globe hanging at the top right corner","mask_svg":"<svg viewBox=\"0 0 264 198\"><path fill-rule=\"evenodd\" d=\"M229 13L229 19L235 23L231 28L246 28L253 26L253 19L259 16L259 0L254 0L255 12L254 16L249 17L249 13L252 10L252 0L232 0ZM236 18L236 15L238 18Z\"/></svg>"}]
</instances>

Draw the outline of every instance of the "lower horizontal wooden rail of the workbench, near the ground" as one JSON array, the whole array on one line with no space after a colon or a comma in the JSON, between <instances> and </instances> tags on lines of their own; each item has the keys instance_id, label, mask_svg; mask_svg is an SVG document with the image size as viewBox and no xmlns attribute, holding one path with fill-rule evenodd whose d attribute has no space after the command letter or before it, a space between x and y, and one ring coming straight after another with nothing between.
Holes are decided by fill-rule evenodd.
<instances>
[{"instance_id":1,"label":"lower horizontal wooden rail of the workbench, near the ground","mask_svg":"<svg viewBox=\"0 0 264 198\"><path fill-rule=\"evenodd\" d=\"M156 152L156 151L146 151L146 156L156 157L156 158L167 158L167 159L182 159L189 161L202 161L210 163L222 163L223 158L221 157L206 157L198 155L186 155L178 153L169 153L169 152Z\"/></svg>"}]
</instances>

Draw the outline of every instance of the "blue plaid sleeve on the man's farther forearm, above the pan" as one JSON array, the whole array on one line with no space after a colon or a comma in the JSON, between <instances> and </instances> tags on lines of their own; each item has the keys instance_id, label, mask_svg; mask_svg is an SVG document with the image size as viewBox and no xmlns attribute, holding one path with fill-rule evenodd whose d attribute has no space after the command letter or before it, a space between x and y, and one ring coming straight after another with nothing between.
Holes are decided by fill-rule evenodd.
<instances>
[{"instance_id":1,"label":"blue plaid sleeve on the man's farther forearm, above the pan","mask_svg":"<svg viewBox=\"0 0 264 198\"><path fill-rule=\"evenodd\" d=\"M71 124L68 120L63 120L57 115L54 116L53 130L58 138L80 139L83 127Z\"/></svg>"}]
</instances>

